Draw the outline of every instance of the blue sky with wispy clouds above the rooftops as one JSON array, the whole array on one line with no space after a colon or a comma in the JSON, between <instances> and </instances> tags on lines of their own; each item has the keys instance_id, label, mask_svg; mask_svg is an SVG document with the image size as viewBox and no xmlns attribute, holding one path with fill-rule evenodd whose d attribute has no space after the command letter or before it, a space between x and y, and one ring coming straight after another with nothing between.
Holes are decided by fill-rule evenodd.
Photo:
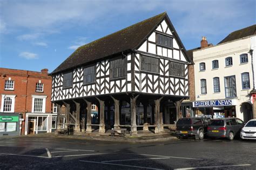
<instances>
[{"instance_id":1,"label":"blue sky with wispy clouds above the rooftops","mask_svg":"<svg viewBox=\"0 0 256 170\"><path fill-rule=\"evenodd\" d=\"M164 11L186 49L255 24L255 1L0 0L0 67L52 72L78 46Z\"/></svg>"}]
</instances>

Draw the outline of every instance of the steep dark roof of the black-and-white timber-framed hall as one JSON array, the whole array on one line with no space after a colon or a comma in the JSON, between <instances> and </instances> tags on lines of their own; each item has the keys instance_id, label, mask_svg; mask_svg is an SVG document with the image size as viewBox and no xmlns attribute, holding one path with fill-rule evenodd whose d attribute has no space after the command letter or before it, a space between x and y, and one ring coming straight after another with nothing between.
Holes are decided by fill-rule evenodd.
<instances>
[{"instance_id":1,"label":"steep dark roof of the black-and-white timber-framed hall","mask_svg":"<svg viewBox=\"0 0 256 170\"><path fill-rule=\"evenodd\" d=\"M63 63L53 70L51 75L85 65L85 63L102 59L113 54L119 54L138 48L139 45L142 44L143 40L149 36L154 29L156 29L157 25L160 24L165 17L171 23L166 12L164 12L126 27L123 30L92 41L89 44L80 46ZM171 29L175 30L172 24ZM178 37L178 34L176 34L176 31L174 31L173 34L176 35L181 47L185 49ZM184 50L184 53L186 56L186 50Z\"/></svg>"}]
</instances>

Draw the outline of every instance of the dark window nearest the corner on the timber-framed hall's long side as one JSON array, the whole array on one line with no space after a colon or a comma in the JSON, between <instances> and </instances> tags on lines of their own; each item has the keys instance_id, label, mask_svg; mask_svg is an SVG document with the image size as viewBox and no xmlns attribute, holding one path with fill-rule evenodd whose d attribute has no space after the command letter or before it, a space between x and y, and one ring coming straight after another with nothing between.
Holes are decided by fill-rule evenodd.
<instances>
[{"instance_id":1,"label":"dark window nearest the corner on the timber-framed hall's long side","mask_svg":"<svg viewBox=\"0 0 256 170\"><path fill-rule=\"evenodd\" d=\"M110 79L125 77L125 59L120 58L110 61Z\"/></svg>"}]
</instances>

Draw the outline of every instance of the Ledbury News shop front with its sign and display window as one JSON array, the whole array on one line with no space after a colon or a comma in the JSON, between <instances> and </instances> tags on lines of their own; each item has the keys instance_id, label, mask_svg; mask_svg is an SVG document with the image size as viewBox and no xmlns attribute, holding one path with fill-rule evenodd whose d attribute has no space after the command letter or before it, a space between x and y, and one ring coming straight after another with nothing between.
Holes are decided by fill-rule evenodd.
<instances>
[{"instance_id":1,"label":"Ledbury News shop front with its sign and display window","mask_svg":"<svg viewBox=\"0 0 256 170\"><path fill-rule=\"evenodd\" d=\"M237 100L207 100L193 102L195 117L223 118L237 117Z\"/></svg>"}]
</instances>

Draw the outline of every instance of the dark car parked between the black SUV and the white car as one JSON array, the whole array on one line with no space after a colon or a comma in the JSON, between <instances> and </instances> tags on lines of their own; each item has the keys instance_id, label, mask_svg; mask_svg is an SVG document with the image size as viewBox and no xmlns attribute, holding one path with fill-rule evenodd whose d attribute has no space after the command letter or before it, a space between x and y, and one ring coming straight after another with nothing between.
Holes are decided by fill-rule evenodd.
<instances>
[{"instance_id":1,"label":"dark car parked between the black SUV and the white car","mask_svg":"<svg viewBox=\"0 0 256 170\"><path fill-rule=\"evenodd\" d=\"M208 137L224 137L233 140L235 136L239 136L244 122L239 118L217 118L211 119L207 128Z\"/></svg>"}]
</instances>

